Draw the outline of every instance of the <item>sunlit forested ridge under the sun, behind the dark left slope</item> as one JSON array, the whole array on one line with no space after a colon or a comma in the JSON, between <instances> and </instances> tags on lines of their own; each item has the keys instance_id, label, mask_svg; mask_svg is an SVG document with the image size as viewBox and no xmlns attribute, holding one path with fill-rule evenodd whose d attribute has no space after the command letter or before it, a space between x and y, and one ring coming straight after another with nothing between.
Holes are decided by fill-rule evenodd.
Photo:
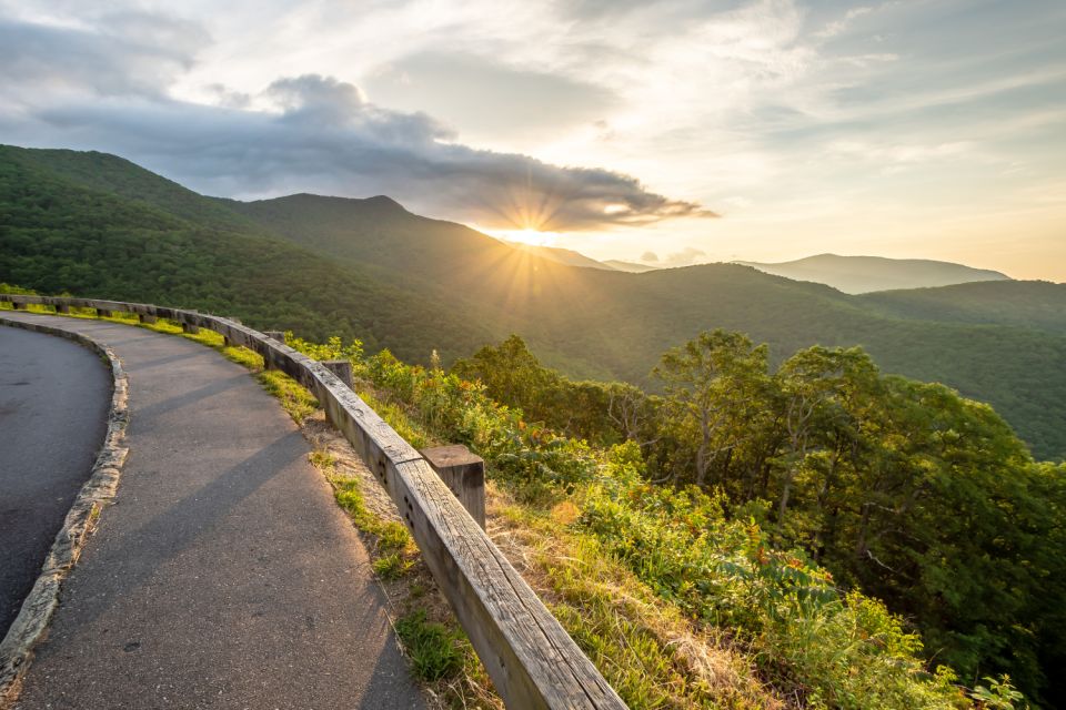
<instances>
[{"instance_id":1,"label":"sunlit forested ridge under the sun, behind the dark left slope","mask_svg":"<svg viewBox=\"0 0 1066 710\"><path fill-rule=\"evenodd\" d=\"M479 314L497 333L521 333L549 364L577 376L652 385L648 373L662 347L707 327L766 342L775 363L814 344L862 345L886 372L942 382L992 403L1038 456L1066 457L1059 424L1066 371L1053 364L1066 362L1066 332L1028 327L1028 315L1045 313L1044 303L1058 302L1057 313L1066 312L1066 286L1046 294L1042 305L1022 300L1013 312L996 305L1013 317L939 322L733 264L644 274L566 268L382 197L293 195L237 209L321 254L403 273L412 290Z\"/></svg>"}]
</instances>

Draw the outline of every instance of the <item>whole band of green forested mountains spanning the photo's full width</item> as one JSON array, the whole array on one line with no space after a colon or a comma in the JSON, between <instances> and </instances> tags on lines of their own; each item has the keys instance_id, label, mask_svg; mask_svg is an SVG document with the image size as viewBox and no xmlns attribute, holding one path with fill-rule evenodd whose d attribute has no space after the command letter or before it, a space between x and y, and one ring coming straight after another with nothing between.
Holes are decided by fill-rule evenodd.
<instances>
[{"instance_id":1,"label":"whole band of green forested mountains spanning the photo's full width","mask_svg":"<svg viewBox=\"0 0 1066 710\"><path fill-rule=\"evenodd\" d=\"M238 202L113 155L0 146L0 282L360 337L415 362L517 333L571 376L644 385L665 349L715 327L766 342L776 362L862 345L887 372L993 404L1038 456L1066 457L1066 285L855 296L736 264L626 273L583 260L385 196Z\"/></svg>"}]
</instances>

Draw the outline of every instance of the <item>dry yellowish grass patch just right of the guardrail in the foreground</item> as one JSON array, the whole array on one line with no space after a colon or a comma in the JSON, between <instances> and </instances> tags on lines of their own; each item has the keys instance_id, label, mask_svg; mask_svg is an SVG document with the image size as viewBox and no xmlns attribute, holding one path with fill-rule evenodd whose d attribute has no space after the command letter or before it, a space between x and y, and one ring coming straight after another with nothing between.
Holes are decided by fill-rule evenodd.
<instances>
[{"instance_id":1,"label":"dry yellowish grass patch just right of the guardrail in the foreground","mask_svg":"<svg viewBox=\"0 0 1066 710\"><path fill-rule=\"evenodd\" d=\"M780 708L742 648L663 604L594 538L505 489L489 499L493 539L631 708Z\"/></svg>"}]
</instances>

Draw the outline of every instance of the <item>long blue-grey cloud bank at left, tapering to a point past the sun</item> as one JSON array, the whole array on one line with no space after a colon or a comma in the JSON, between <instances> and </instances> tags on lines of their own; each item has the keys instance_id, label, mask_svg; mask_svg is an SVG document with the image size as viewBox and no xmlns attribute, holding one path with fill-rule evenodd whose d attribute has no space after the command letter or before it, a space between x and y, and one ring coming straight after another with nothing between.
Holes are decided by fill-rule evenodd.
<instances>
[{"instance_id":1,"label":"long blue-grey cloud bank at left, tapering to a point past the sun","mask_svg":"<svg viewBox=\"0 0 1066 710\"><path fill-rule=\"evenodd\" d=\"M175 101L162 89L192 61L197 42L157 52L150 45L180 27L148 16L114 21L142 24L145 40L111 42L105 29L0 26L0 61L8 67L32 71L44 85L87 82L43 92L47 100L20 110L4 101L0 135L118 153L209 194L384 193L486 227L592 230L712 215L630 175L459 144L429 115L382 109L334 78L279 79L259 97L274 111L234 108L248 104L240 94L214 106ZM0 100L12 93L0 85Z\"/></svg>"}]
</instances>

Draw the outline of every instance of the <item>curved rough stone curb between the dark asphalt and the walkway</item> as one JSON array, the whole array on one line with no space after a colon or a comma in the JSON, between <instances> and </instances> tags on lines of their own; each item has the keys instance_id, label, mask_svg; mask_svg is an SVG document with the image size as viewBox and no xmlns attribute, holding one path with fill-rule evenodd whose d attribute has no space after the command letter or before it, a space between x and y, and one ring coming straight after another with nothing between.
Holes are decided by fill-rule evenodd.
<instances>
[{"instance_id":1,"label":"curved rough stone curb between the dark asphalt and the walkway","mask_svg":"<svg viewBox=\"0 0 1066 710\"><path fill-rule=\"evenodd\" d=\"M33 659L33 649L44 638L52 613L59 606L63 580L81 554L81 548L95 527L103 506L114 498L122 464L129 449L122 446L130 420L128 408L129 381L114 352L80 333L49 325L9 320L0 315L0 324L57 335L74 341L94 351L111 366L114 388L108 412L108 433L92 466L89 480L81 487L74 504L56 535L56 541L44 558L41 574L22 602L22 609L0 641L0 710L9 708L18 698L22 677Z\"/></svg>"}]
</instances>

